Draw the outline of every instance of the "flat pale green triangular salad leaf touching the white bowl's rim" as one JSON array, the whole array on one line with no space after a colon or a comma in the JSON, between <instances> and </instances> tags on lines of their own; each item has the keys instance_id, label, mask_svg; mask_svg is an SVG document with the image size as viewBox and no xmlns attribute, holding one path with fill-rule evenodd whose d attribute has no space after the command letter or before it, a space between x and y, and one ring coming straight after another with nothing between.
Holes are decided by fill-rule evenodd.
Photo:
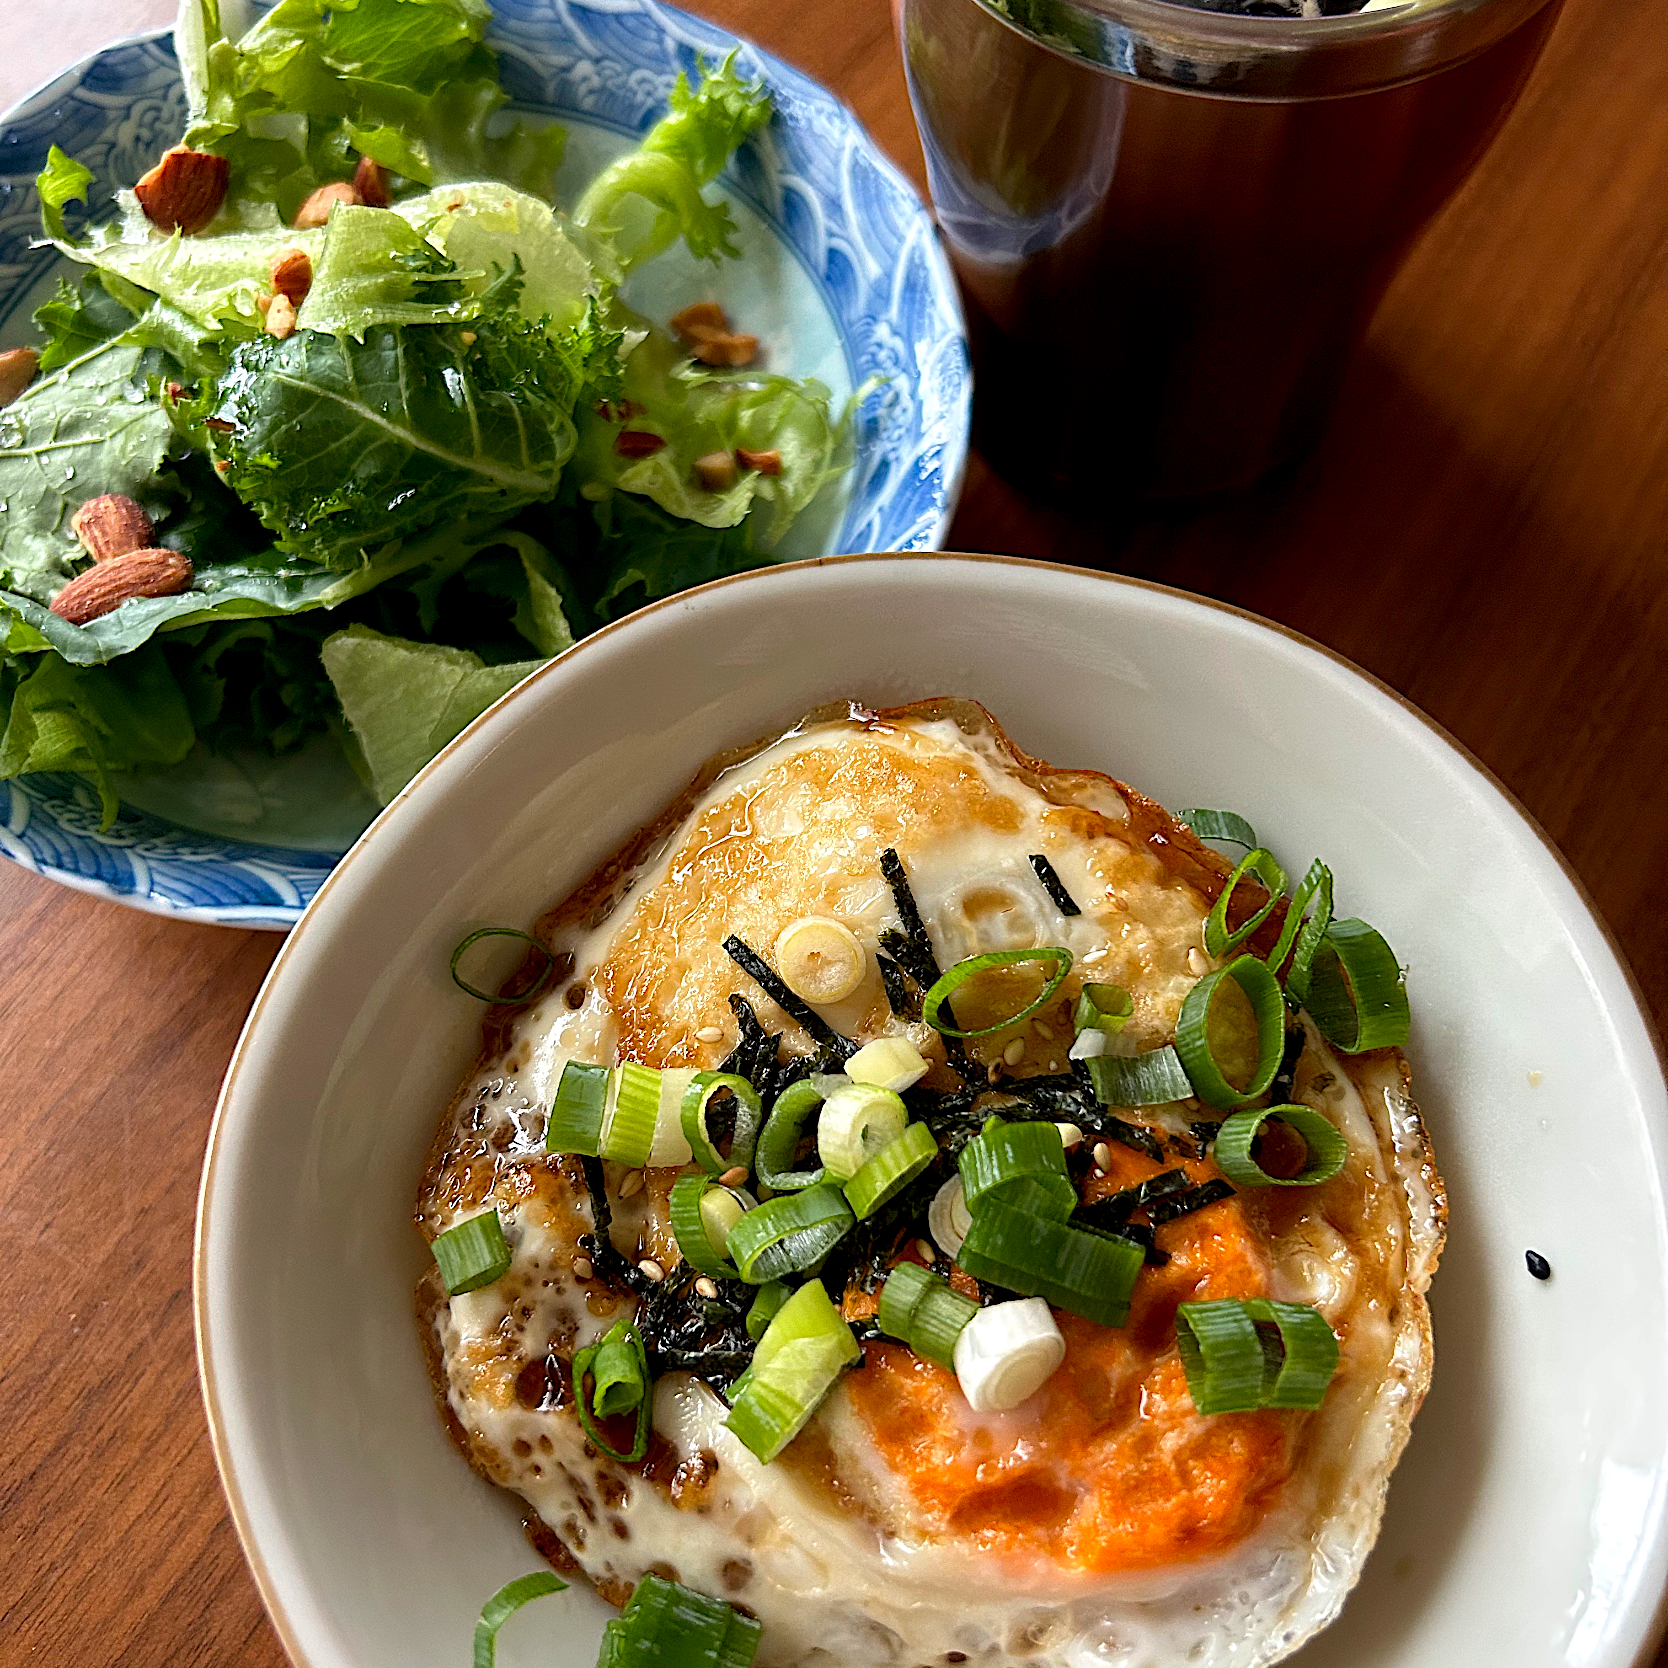
<instances>
[{"instance_id":1,"label":"flat pale green triangular salad leaf touching the white bowl's rim","mask_svg":"<svg viewBox=\"0 0 1668 1668\"><path fill-rule=\"evenodd\" d=\"M324 667L382 804L542 664L485 666L467 649L384 637L369 626L350 626L324 644Z\"/></svg>"}]
</instances>

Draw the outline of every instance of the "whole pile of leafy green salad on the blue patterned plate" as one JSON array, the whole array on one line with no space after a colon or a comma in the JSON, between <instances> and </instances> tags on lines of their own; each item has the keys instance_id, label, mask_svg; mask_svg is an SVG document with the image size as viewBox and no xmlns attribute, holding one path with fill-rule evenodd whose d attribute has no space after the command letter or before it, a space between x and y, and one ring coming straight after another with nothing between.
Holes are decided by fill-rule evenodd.
<instances>
[{"instance_id":1,"label":"whole pile of leafy green salad on the blue patterned plate","mask_svg":"<svg viewBox=\"0 0 1668 1668\"><path fill-rule=\"evenodd\" d=\"M679 77L569 217L489 20L279 0L235 33L234 0L183 0L183 145L225 182L195 232L143 183L77 229L92 175L53 147L43 229L83 277L0 409L0 776L80 771L108 819L118 772L329 732L385 802L577 636L769 560L849 467L827 389L702 365L619 294L679 240L736 257L707 193L767 93ZM107 494L190 584L55 610Z\"/></svg>"}]
</instances>

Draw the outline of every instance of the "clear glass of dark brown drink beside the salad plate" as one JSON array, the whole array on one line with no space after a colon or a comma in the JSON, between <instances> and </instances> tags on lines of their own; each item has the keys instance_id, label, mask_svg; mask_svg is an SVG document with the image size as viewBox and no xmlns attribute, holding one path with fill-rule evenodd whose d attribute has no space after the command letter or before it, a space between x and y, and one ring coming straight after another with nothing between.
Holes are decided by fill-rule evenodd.
<instances>
[{"instance_id":1,"label":"clear glass of dark brown drink beside the salad plate","mask_svg":"<svg viewBox=\"0 0 1668 1668\"><path fill-rule=\"evenodd\" d=\"M1560 3L896 0L986 455L1188 497L1301 450Z\"/></svg>"}]
</instances>

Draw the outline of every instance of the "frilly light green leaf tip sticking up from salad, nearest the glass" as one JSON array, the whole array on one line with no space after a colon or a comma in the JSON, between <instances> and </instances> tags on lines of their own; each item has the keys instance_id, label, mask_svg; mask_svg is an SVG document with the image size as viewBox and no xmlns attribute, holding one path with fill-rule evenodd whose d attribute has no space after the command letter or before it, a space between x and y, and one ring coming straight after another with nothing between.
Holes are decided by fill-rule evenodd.
<instances>
[{"instance_id":1,"label":"frilly light green leaf tip sticking up from salad, nearest the glass","mask_svg":"<svg viewBox=\"0 0 1668 1668\"><path fill-rule=\"evenodd\" d=\"M701 259L734 257L729 208L709 203L701 192L736 147L769 120L771 95L736 73L736 53L696 88L681 73L667 113L634 152L590 182L574 219L605 237L627 272L679 237Z\"/></svg>"}]
</instances>

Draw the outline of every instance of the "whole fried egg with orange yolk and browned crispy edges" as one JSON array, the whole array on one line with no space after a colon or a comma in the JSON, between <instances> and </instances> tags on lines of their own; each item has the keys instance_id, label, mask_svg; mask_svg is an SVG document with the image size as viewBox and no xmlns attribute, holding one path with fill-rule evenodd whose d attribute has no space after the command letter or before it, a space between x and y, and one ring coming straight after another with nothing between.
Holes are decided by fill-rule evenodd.
<instances>
[{"instance_id":1,"label":"whole fried egg with orange yolk and browned crispy edges","mask_svg":"<svg viewBox=\"0 0 1668 1668\"><path fill-rule=\"evenodd\" d=\"M1229 866L1136 791L1027 759L977 707L824 712L716 762L544 917L559 981L494 1022L442 1119L420 1231L432 1239L494 1204L512 1251L490 1286L449 1299L432 1271L420 1286L447 1424L520 1496L552 1560L615 1603L654 1571L744 1606L764 1625L767 1668L1278 1661L1338 1615L1378 1535L1429 1381L1426 1288L1444 1224L1404 1061L1336 1054L1308 1019L1291 1098L1344 1136L1343 1171L1159 1226L1168 1261L1141 1273L1128 1324L1056 1311L1064 1364L1017 1408L974 1413L954 1374L871 1341L769 1465L726 1429L719 1391L676 1371L654 1386L641 1465L585 1441L572 1356L636 1299L577 1243L592 1226L579 1164L544 1153L564 1066L716 1068L737 1041L732 996L782 1034L784 1058L809 1054L812 1039L722 944L736 934L769 952L784 927L826 917L856 934L866 967L816 1011L856 1041L909 1037L934 1064L927 1083L949 1086L942 1039L894 1016L876 959L899 926L887 849L941 966L1073 952L1046 1007L969 1042L997 1099L1014 1078L1069 1069L1084 981L1129 992L1126 1036L1148 1049L1174 1037L1188 992L1219 966L1203 926ZM1037 854L1079 912L1039 882ZM1178 1164L1218 1176L1189 1133L1208 1116L1198 1103L1123 1116L1166 1156L1096 1146L1088 1198ZM614 1246L651 1278L674 1271L666 1201L679 1171L605 1171ZM849 1296L847 1314L861 1313ZM1176 1306L1256 1296L1316 1306L1339 1339L1338 1374L1313 1413L1201 1416Z\"/></svg>"}]
</instances>

